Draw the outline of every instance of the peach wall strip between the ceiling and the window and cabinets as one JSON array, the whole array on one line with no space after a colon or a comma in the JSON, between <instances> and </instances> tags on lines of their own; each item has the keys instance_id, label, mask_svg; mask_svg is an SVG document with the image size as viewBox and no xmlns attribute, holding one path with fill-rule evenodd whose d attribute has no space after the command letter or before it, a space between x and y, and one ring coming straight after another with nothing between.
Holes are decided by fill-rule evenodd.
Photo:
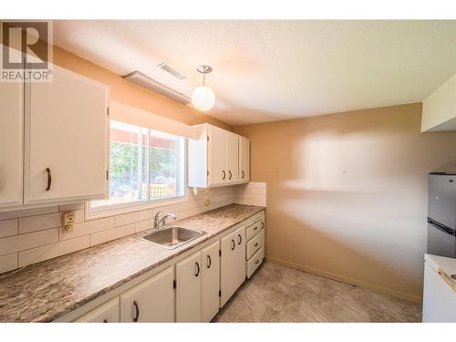
<instances>
[{"instance_id":1,"label":"peach wall strip between the ceiling and the window and cabinets","mask_svg":"<svg viewBox=\"0 0 456 342\"><path fill-rule=\"evenodd\" d=\"M162 97L145 88L140 88L104 67L89 62L87 59L69 53L60 47L54 47L54 64L65 67L78 74L93 78L111 87L111 98L130 106L150 111L151 113L174 119L188 125L208 122L212 125L232 130L227 123L214 119L191 107Z\"/></svg>"}]
</instances>

